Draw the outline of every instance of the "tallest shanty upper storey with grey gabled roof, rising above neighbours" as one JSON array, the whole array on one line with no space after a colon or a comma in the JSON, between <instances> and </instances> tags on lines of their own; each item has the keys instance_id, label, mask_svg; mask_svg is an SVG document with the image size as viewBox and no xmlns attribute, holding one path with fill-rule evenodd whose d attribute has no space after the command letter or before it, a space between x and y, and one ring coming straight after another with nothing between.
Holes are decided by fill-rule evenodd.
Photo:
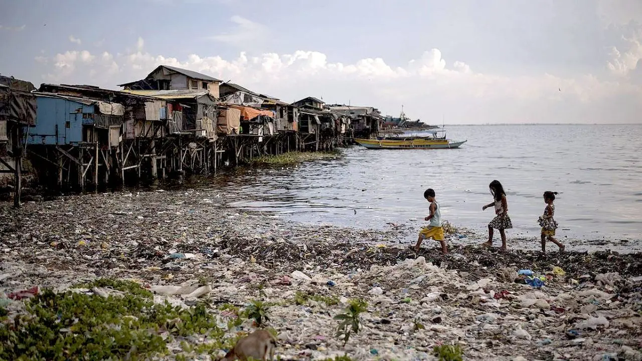
<instances>
[{"instance_id":1,"label":"tallest shanty upper storey with grey gabled roof, rising above neighbours","mask_svg":"<svg viewBox=\"0 0 642 361\"><path fill-rule=\"evenodd\" d=\"M119 85L126 90L189 90L205 91L214 98L220 98L221 80L180 67L161 65L144 79Z\"/></svg>"}]
</instances>

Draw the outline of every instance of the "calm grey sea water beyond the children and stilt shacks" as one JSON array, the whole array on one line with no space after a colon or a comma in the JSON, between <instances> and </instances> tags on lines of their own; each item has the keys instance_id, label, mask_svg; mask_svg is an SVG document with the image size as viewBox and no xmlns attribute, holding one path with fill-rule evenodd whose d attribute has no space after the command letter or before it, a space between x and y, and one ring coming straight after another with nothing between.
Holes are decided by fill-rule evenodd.
<instances>
[{"instance_id":1,"label":"calm grey sea water beyond the children and stilt shacks","mask_svg":"<svg viewBox=\"0 0 642 361\"><path fill-rule=\"evenodd\" d=\"M310 224L364 228L403 224L409 229L404 240L411 242L428 215L426 188L437 191L442 219L487 233L494 212L482 211L482 206L492 202L488 185L498 179L507 191L514 225L509 238L539 238L542 193L551 190L560 193L555 200L558 235L576 240L577 247L571 244L571 248L640 247L642 125L485 125L446 130L449 139L468 142L458 150L354 146L344 150L339 161L246 170L217 182L244 195L247 200L237 206L274 211Z\"/></svg>"}]
</instances>

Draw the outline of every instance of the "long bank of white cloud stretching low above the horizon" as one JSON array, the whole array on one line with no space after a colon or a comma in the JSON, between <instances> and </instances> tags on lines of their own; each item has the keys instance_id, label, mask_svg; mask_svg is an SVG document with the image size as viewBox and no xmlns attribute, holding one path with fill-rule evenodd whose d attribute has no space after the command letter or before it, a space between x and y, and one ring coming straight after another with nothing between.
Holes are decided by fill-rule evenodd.
<instances>
[{"instance_id":1,"label":"long bank of white cloud stretching low above the horizon","mask_svg":"<svg viewBox=\"0 0 642 361\"><path fill-rule=\"evenodd\" d=\"M139 39L139 51L115 55L59 53L42 65L49 69L44 78L115 89L166 64L232 80L284 101L317 96L332 103L372 105L390 114L404 104L409 116L428 123L440 123L442 114L447 123L639 123L642 112L642 87L630 82L593 75L478 73L465 62L446 62L438 49L425 51L405 66L393 66L383 58L343 64L317 51L241 52L232 59L193 54L178 59L146 53L143 45Z\"/></svg>"}]
</instances>

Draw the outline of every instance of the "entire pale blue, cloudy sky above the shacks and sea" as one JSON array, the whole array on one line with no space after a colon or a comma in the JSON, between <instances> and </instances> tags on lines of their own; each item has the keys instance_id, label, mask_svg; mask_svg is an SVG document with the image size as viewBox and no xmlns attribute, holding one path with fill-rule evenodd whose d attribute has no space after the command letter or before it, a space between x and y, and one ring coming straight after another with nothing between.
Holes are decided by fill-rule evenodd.
<instances>
[{"instance_id":1,"label":"entire pale blue, cloudy sky above the shacks and sea","mask_svg":"<svg viewBox=\"0 0 642 361\"><path fill-rule=\"evenodd\" d=\"M639 0L0 0L0 73L161 64L429 124L642 123Z\"/></svg>"}]
</instances>

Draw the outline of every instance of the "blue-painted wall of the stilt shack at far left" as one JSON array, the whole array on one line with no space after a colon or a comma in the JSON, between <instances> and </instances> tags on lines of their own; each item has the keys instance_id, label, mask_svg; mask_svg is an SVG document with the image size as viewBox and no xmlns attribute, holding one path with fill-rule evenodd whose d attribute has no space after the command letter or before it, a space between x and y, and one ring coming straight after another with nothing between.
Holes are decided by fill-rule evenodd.
<instances>
[{"instance_id":1,"label":"blue-painted wall of the stilt shack at far left","mask_svg":"<svg viewBox=\"0 0 642 361\"><path fill-rule=\"evenodd\" d=\"M83 119L83 113L94 113L94 105L85 105L64 98L36 95L38 112L36 126L29 129L27 144L76 145L82 142L83 120L93 124L93 119ZM58 139L56 139L56 125Z\"/></svg>"}]
</instances>

